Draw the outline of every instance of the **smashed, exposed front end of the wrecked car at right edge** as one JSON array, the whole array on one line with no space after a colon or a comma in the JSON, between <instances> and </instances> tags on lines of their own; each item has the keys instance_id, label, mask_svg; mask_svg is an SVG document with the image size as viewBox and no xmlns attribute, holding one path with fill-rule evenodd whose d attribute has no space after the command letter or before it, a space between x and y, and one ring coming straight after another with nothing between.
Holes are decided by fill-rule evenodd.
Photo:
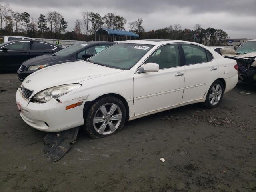
<instances>
[{"instance_id":1,"label":"smashed, exposed front end of the wrecked car at right edge","mask_svg":"<svg viewBox=\"0 0 256 192\"><path fill-rule=\"evenodd\" d=\"M225 58L234 59L238 64L238 77L244 82L256 82L256 58L224 56Z\"/></svg>"}]
</instances>

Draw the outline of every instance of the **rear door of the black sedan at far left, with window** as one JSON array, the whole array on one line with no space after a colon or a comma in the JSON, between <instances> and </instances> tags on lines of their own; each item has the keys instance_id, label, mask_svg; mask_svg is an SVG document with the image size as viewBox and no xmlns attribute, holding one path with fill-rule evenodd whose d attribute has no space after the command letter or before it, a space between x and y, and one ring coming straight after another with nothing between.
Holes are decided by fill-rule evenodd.
<instances>
[{"instance_id":1,"label":"rear door of the black sedan at far left, with window","mask_svg":"<svg viewBox=\"0 0 256 192\"><path fill-rule=\"evenodd\" d=\"M52 54L52 48L48 43L43 42L33 42L30 50L30 58L45 55L45 54Z\"/></svg>"}]
</instances>

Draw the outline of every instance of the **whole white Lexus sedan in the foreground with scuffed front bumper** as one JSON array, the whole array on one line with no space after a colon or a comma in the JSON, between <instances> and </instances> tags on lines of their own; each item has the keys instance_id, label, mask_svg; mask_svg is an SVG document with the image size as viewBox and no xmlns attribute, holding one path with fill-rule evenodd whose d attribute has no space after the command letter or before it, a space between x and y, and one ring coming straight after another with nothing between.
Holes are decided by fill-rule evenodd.
<instances>
[{"instance_id":1,"label":"whole white Lexus sedan in the foreground with scuffed front bumper","mask_svg":"<svg viewBox=\"0 0 256 192\"><path fill-rule=\"evenodd\" d=\"M126 120L198 102L218 106L236 86L237 69L236 60L194 42L129 40L31 74L16 102L22 119L38 130L82 126L101 138Z\"/></svg>"}]
</instances>

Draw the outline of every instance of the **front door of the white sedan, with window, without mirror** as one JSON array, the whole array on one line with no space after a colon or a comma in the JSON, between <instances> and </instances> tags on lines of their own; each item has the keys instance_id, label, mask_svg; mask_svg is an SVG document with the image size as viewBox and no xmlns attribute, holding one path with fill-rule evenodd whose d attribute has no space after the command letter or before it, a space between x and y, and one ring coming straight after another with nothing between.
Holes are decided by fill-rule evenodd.
<instances>
[{"instance_id":1,"label":"front door of the white sedan, with window, without mirror","mask_svg":"<svg viewBox=\"0 0 256 192\"><path fill-rule=\"evenodd\" d=\"M182 103L185 67L179 52L177 44L161 46L145 62L159 64L159 71L134 74L135 116Z\"/></svg>"}]
</instances>

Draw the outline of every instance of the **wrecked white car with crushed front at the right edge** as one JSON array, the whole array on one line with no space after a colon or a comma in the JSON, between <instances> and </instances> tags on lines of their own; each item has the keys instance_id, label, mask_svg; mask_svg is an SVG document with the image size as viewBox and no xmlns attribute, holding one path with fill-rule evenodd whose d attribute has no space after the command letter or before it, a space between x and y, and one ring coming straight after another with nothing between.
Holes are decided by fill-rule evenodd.
<instances>
[{"instance_id":1,"label":"wrecked white car with crushed front at the right edge","mask_svg":"<svg viewBox=\"0 0 256 192\"><path fill-rule=\"evenodd\" d=\"M256 83L256 39L244 42L236 50L223 48L220 53L237 61L240 80Z\"/></svg>"}]
</instances>

